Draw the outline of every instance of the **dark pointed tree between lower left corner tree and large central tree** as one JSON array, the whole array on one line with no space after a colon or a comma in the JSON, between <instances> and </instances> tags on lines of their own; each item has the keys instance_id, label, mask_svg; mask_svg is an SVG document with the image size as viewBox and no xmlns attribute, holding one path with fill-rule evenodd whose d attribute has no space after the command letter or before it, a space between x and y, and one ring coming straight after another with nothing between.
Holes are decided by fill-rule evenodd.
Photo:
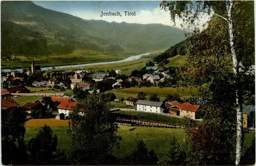
<instances>
[{"instance_id":1,"label":"dark pointed tree between lower left corner tree and large central tree","mask_svg":"<svg viewBox=\"0 0 256 166\"><path fill-rule=\"evenodd\" d=\"M52 164L56 148L57 135L53 135L52 129L45 125L36 137L29 141L30 163L33 165Z\"/></svg>"}]
</instances>

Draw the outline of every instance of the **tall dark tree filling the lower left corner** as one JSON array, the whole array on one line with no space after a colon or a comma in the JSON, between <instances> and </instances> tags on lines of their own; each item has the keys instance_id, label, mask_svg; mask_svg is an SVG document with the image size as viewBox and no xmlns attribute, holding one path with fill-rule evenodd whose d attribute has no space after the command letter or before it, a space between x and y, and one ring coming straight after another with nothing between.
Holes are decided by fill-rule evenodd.
<instances>
[{"instance_id":1,"label":"tall dark tree filling the lower left corner","mask_svg":"<svg viewBox=\"0 0 256 166\"><path fill-rule=\"evenodd\" d=\"M22 107L1 110L2 163L27 164L25 146L26 112Z\"/></svg>"}]
</instances>

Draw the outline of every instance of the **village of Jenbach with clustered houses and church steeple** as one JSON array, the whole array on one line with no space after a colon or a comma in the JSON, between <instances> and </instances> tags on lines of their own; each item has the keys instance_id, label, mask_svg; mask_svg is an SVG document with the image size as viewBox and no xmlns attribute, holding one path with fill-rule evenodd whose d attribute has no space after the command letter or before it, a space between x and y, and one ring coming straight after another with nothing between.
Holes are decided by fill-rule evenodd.
<instances>
[{"instance_id":1,"label":"village of Jenbach with clustered houses and church steeple","mask_svg":"<svg viewBox=\"0 0 256 166\"><path fill-rule=\"evenodd\" d=\"M40 102L44 103L44 98L51 98L56 102L56 108L50 111L51 118L68 119L69 113L75 109L78 104L79 97L73 94L66 94L65 90L78 89L83 93L104 92L111 89L122 89L131 86L159 86L166 79L172 79L169 75L169 70L164 67L158 67L157 62L152 62L154 66L146 66L145 74L136 77L127 77L122 75L120 69L108 72L93 72L91 70L68 70L65 72L54 72L50 70L41 71L40 66L34 64L32 60L31 67L23 69L23 73L12 71L10 73L2 72L2 109L9 109L16 106L23 107L27 112L27 117L31 118L31 111L36 109L35 102L27 102L23 106L15 101L16 97L39 97ZM101 84L98 84L97 82ZM44 91L31 92L29 88L54 88L59 89L59 92L44 93ZM99 88L97 88L99 87ZM104 87L104 88L102 88ZM166 116L189 117L193 120L198 120L197 111L200 105L207 101L197 101L197 104L189 102L176 101L174 99L161 101L146 100L142 98L127 97L126 99L111 99L113 102L122 102L126 104L125 108L116 106L114 109L133 110L141 112L158 113ZM39 99L38 98L38 99ZM48 107L49 108L49 107Z\"/></svg>"}]
</instances>

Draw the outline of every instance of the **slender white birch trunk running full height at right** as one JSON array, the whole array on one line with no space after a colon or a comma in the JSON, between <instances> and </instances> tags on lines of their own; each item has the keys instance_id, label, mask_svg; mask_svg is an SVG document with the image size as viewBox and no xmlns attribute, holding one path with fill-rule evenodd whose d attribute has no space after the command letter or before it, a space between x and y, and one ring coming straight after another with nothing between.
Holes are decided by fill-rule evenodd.
<instances>
[{"instance_id":1,"label":"slender white birch trunk running full height at right","mask_svg":"<svg viewBox=\"0 0 256 166\"><path fill-rule=\"evenodd\" d=\"M237 146L236 146L236 165L239 165L241 156L242 156L242 147L243 147L243 118L242 118L242 101L241 101L241 86L240 86L240 76L239 76L239 63L237 60L236 51L234 50L234 36L233 36L233 20L231 15L231 10L233 7L232 0L226 0L226 8L227 8L227 16L228 16L228 29L229 29L229 40L230 40L230 49L233 60L233 70L234 75L237 78L236 84L238 85L238 89L236 91L237 97Z\"/></svg>"}]
</instances>

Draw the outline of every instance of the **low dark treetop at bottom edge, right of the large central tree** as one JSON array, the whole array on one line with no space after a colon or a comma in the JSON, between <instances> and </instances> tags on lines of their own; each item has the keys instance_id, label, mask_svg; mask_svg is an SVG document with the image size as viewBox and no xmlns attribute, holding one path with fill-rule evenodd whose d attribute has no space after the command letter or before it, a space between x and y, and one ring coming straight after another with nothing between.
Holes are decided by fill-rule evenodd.
<instances>
[{"instance_id":1,"label":"low dark treetop at bottom edge, right of the large central tree","mask_svg":"<svg viewBox=\"0 0 256 166\"><path fill-rule=\"evenodd\" d=\"M157 165L158 157L154 150L148 151L143 140L137 142L137 149L126 155L121 164L124 165Z\"/></svg>"}]
</instances>

